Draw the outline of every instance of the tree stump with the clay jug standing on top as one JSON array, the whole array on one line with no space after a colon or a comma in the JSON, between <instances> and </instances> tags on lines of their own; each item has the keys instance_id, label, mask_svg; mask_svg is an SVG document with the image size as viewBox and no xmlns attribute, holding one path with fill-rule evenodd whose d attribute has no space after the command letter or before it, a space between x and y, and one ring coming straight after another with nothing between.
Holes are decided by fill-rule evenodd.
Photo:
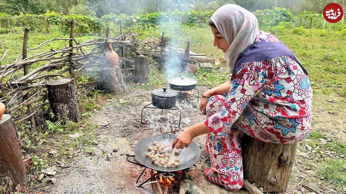
<instances>
[{"instance_id":1,"label":"tree stump with the clay jug standing on top","mask_svg":"<svg viewBox=\"0 0 346 194\"><path fill-rule=\"evenodd\" d=\"M120 67L108 67L102 69L104 86L112 94L125 93L125 83L122 78Z\"/></svg>"}]
</instances>

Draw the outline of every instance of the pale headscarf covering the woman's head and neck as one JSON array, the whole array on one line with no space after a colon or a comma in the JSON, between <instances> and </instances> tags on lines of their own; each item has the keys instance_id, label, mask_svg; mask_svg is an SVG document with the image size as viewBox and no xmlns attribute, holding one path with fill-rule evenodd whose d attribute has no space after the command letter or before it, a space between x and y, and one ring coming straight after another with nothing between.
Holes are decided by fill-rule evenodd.
<instances>
[{"instance_id":1,"label":"pale headscarf covering the woman's head and neck","mask_svg":"<svg viewBox=\"0 0 346 194\"><path fill-rule=\"evenodd\" d=\"M225 52L225 59L228 72L232 74L239 55L256 39L257 18L253 13L236 4L226 4L217 9L210 19L229 45Z\"/></svg>"}]
</instances>

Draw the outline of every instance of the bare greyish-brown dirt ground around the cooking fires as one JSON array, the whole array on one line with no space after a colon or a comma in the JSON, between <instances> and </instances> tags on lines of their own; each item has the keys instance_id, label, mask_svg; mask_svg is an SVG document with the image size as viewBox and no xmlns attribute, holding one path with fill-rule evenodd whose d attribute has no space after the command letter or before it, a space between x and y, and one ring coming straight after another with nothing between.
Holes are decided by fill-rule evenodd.
<instances>
[{"instance_id":1,"label":"bare greyish-brown dirt ground around the cooking fires","mask_svg":"<svg viewBox=\"0 0 346 194\"><path fill-rule=\"evenodd\" d=\"M203 91L208 88L198 87L198 89L203 93ZM99 125L98 132L96 133L96 141L98 144L92 148L95 154L87 155L81 152L74 158L75 162L71 163L69 167L59 168L56 174L56 184L46 188L46 192L52 194L153 193L150 184L144 185L144 188L136 187L136 185L138 185L135 183L136 179L142 172L143 167L126 161L126 156L134 154L134 146L140 139L155 134L161 134L160 130L142 130L140 125L134 124L140 119L142 107L151 102L150 91L147 90L136 90L132 94L127 94L125 98L136 99L137 97L144 97L144 101L141 101L139 104L124 105L121 107L105 106L102 110L89 118L92 123ZM329 106L329 104L326 106ZM317 106L317 108L314 109L313 117L315 118L313 120L313 127L327 134L335 133L334 135L341 136L341 139L344 141L345 127L342 126L344 126L345 120L335 120L333 117L335 117L335 115L344 117L346 116L345 113L340 110L334 111L335 113L333 112L332 114L320 114L320 112L325 109L334 110L333 107L323 106ZM166 111L172 110L164 110L164 114ZM146 109L145 112L145 114L161 114L161 110L154 109ZM186 117L189 117L191 122L188 125L181 126L182 129L186 129L205 119L205 115L200 114L198 106L191 110L182 110L182 119ZM334 130L327 130L331 125L336 126ZM245 190L228 192L217 185L209 183L204 178L202 170L209 164L209 158L204 152L205 138L205 135L194 138L194 141L200 145L202 153L201 158L196 164L197 169L190 172L193 181L205 193L248 193ZM298 150L297 153L300 154ZM295 161L295 165L299 166L303 162L302 160ZM301 172L301 174L310 173L311 172L308 171ZM149 171L146 171L138 183L143 182L148 177ZM309 185L316 187L315 185L317 185L317 182L312 181ZM296 187L295 183L290 182L289 186L293 188L292 194L301 193L294 189ZM308 190L303 191L304 193L310 192Z\"/></svg>"}]
</instances>

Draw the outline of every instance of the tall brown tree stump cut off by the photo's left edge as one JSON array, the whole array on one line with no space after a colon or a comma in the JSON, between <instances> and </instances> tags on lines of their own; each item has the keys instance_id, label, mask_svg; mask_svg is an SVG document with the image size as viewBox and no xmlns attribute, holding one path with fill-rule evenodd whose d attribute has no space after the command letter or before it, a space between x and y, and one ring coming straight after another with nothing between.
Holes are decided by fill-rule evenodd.
<instances>
[{"instance_id":1,"label":"tall brown tree stump cut off by the photo's left edge","mask_svg":"<svg viewBox=\"0 0 346 194\"><path fill-rule=\"evenodd\" d=\"M0 181L7 183L10 179L12 188L8 188L9 190L14 189L20 183L26 183L26 172L22 158L23 155L11 115L4 114L0 119Z\"/></svg>"}]
</instances>

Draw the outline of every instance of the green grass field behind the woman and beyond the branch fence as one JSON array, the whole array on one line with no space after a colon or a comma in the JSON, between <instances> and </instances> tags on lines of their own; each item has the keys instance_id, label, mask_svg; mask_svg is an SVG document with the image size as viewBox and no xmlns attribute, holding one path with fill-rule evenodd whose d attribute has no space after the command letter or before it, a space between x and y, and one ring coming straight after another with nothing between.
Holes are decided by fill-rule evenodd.
<instances>
[{"instance_id":1,"label":"green grass field behind the woman and beyond the branch fence","mask_svg":"<svg viewBox=\"0 0 346 194\"><path fill-rule=\"evenodd\" d=\"M142 37L160 36L162 31L165 31L172 39L185 40L176 41L176 45L180 48L185 48L186 41L189 40L191 51L218 58L222 62L221 65L226 67L226 63L221 59L222 51L212 45L213 36L209 28L163 25L142 32ZM2 65L12 63L21 53L22 37L23 33L0 35L2 44L0 56L7 48L10 49L8 56L2 61ZM67 38L68 36L61 33L30 33L28 46L34 47L40 42L56 37ZM346 34L318 29L295 28L278 32L276 37L295 53L307 69L313 88L313 128L309 137L299 144L300 152L306 153L308 158L299 155L296 157L297 167L293 168L292 174L294 176L292 176L291 181L296 180L297 177L300 177L299 174L305 171L306 174L312 172L311 175L305 175L303 178L315 182L321 180L322 183L342 192L343 185L346 185L346 135L342 132L342 129L345 129L346 116ZM76 37L80 42L90 38L92 36ZM64 41L56 41L37 52L64 46ZM229 76L228 72L221 75ZM228 79L215 71L198 70L196 74L191 76L198 79L200 85L209 87L214 87ZM163 72L152 67L150 83L135 87L155 88L163 83L165 83ZM85 103L89 105L90 101L86 100ZM90 106L94 105L91 103Z\"/></svg>"}]
</instances>

